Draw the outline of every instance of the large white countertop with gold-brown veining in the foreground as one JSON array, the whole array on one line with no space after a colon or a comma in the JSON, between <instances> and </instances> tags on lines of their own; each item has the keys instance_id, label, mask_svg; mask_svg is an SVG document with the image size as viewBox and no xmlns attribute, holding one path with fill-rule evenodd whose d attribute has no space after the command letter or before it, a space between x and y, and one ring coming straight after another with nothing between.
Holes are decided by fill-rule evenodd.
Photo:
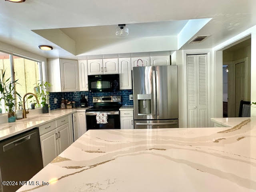
<instances>
[{"instance_id":1,"label":"large white countertop with gold-brown veining in the foreground","mask_svg":"<svg viewBox=\"0 0 256 192\"><path fill-rule=\"evenodd\" d=\"M256 191L256 118L234 127L88 130L18 192Z\"/></svg>"}]
</instances>

